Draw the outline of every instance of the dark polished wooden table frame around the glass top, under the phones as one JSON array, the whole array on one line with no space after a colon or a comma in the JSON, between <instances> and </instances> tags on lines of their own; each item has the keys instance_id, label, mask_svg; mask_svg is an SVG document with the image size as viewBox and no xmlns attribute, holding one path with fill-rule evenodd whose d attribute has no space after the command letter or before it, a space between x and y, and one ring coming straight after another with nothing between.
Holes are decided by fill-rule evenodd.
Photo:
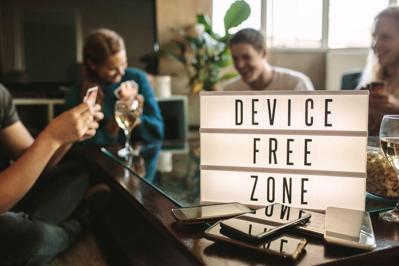
<instances>
[{"instance_id":1,"label":"dark polished wooden table frame around the glass top, under the phones","mask_svg":"<svg viewBox=\"0 0 399 266\"><path fill-rule=\"evenodd\" d=\"M284 260L262 252L238 246L216 243L203 237L205 225L181 226L172 217L170 210L176 207L162 193L142 178L127 171L118 162L101 152L100 146L87 147L85 156L96 169L96 174L107 179L114 191L128 199L168 243L175 246L191 263L199 265L370 265L399 261L399 224L387 223L377 214L371 222L377 248L372 251L326 244L323 239L304 236L308 243L296 261ZM125 232L130 236L129 231ZM132 233L134 234L134 233ZM140 241L140 240L137 240ZM173 263L172 263L173 264Z\"/></svg>"}]
</instances>

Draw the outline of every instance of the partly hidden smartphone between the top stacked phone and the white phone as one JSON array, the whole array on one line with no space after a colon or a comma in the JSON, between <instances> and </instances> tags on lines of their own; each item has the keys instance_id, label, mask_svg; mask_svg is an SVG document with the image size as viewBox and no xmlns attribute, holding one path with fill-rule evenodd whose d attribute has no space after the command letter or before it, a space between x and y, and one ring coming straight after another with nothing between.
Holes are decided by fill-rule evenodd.
<instances>
[{"instance_id":1,"label":"partly hidden smartphone between the top stacked phone and the white phone","mask_svg":"<svg viewBox=\"0 0 399 266\"><path fill-rule=\"evenodd\" d=\"M326 215L323 213L315 213L307 211L312 216L309 220L297 223L292 227L293 231L301 232L311 236L324 238L324 231L326 225Z\"/></svg>"}]
</instances>

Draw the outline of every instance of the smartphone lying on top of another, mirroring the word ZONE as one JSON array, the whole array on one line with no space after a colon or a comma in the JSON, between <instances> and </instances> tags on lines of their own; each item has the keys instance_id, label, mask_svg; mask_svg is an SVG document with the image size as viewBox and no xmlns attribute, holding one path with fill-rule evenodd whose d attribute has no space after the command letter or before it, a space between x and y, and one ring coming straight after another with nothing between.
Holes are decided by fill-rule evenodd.
<instances>
[{"instance_id":1,"label":"smartphone lying on top of another, mirroring the word ZONE","mask_svg":"<svg viewBox=\"0 0 399 266\"><path fill-rule=\"evenodd\" d=\"M259 240L290 225L310 219L311 214L275 203L249 213L221 221L221 227L251 240Z\"/></svg>"}]
</instances>

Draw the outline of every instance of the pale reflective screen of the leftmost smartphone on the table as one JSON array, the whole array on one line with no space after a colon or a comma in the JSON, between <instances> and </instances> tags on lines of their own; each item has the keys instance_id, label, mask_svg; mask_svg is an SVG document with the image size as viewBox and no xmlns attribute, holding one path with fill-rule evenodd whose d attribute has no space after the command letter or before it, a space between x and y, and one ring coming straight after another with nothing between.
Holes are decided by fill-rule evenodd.
<instances>
[{"instance_id":1,"label":"pale reflective screen of the leftmost smartphone on the table","mask_svg":"<svg viewBox=\"0 0 399 266\"><path fill-rule=\"evenodd\" d=\"M182 208L180 210L187 218L202 218L243 213L243 211L237 208L234 204L204 205L192 208Z\"/></svg>"}]
</instances>

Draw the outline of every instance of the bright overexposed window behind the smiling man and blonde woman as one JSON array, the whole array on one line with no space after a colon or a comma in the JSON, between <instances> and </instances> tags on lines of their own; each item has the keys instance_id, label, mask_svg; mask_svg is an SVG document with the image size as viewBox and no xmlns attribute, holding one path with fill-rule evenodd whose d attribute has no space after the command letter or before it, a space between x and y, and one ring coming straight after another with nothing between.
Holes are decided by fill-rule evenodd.
<instances>
[{"instance_id":1,"label":"bright overexposed window behind the smiling man and blonde woman","mask_svg":"<svg viewBox=\"0 0 399 266\"><path fill-rule=\"evenodd\" d=\"M213 0L213 30L224 35L223 17L235 0ZM264 32L271 48L369 47L375 15L399 0L245 0L251 16L237 27ZM264 7L264 8L263 8Z\"/></svg>"}]
</instances>

